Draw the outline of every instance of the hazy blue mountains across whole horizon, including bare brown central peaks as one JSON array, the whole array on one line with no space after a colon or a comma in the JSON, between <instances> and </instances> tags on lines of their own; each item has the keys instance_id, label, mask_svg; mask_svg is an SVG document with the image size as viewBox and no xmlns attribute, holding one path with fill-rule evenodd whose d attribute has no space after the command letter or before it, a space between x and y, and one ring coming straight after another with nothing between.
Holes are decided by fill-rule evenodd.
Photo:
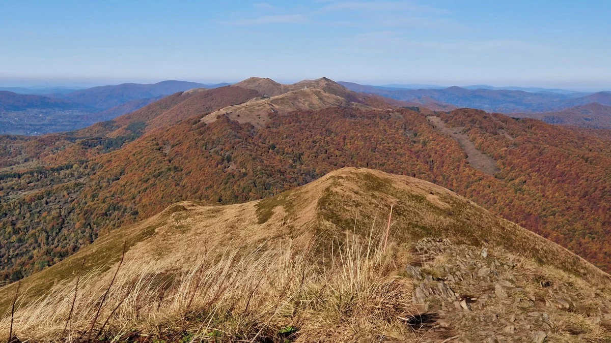
<instances>
[{"instance_id":1,"label":"hazy blue mountains across whole horizon, including bare brown central peaks","mask_svg":"<svg viewBox=\"0 0 611 343\"><path fill-rule=\"evenodd\" d=\"M323 81L320 81L323 80ZM331 87L329 79L326 87ZM255 89L263 96L276 96L290 90L312 87L313 81L296 84L279 84L265 78L251 78L235 84L238 87ZM580 125L586 128L606 128L604 107L592 107L585 119L579 119L575 111L569 110L560 117L556 112L571 107L598 103L611 106L611 92L583 93L557 88L537 87L493 87L469 85L466 87L443 87L426 84L388 84L382 86L360 85L352 82L332 82L338 96L343 89L357 93L383 96L397 106L428 107L437 111L448 111L459 107L472 107L488 112L516 114L524 117L543 118L554 123ZM84 128L99 121L112 120L123 114L138 110L164 96L184 92L193 88L218 88L230 85L200 84L185 81L163 81L156 84L120 84L74 89L65 87L4 87L0 88L0 134L36 135ZM344 88L345 87L345 88ZM321 88L322 89L322 88ZM345 91L342 91L345 93ZM362 95L361 95L362 96ZM389 101L389 100L386 100ZM358 103L358 101L353 101ZM392 102L392 101L391 101ZM530 115L532 114L532 115ZM568 119L577 115L576 118ZM590 120L591 119L591 120Z\"/></svg>"}]
</instances>

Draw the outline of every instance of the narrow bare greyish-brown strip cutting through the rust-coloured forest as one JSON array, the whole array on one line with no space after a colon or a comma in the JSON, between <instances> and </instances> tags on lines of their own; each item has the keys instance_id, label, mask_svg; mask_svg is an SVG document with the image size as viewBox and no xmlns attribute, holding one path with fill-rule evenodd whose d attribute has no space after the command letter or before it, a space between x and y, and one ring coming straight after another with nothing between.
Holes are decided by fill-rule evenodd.
<instances>
[{"instance_id":1,"label":"narrow bare greyish-brown strip cutting through the rust-coloured forest","mask_svg":"<svg viewBox=\"0 0 611 343\"><path fill-rule=\"evenodd\" d=\"M426 119L428 119L437 130L452 136L452 138L458 142L461 148L467 153L467 162L469 162L471 167L488 175L494 175L500 171L496 161L475 148L475 144L469 140L469 136L463 134L463 127L448 128L439 117L426 117Z\"/></svg>"}]
</instances>

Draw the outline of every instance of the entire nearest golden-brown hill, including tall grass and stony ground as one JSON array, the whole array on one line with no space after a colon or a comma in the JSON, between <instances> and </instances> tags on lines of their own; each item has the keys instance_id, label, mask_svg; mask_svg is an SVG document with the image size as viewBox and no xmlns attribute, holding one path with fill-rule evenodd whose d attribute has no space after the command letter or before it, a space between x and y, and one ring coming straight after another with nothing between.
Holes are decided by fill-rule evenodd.
<instances>
[{"instance_id":1,"label":"entire nearest golden-brown hill, including tall grass and stony ground","mask_svg":"<svg viewBox=\"0 0 611 343\"><path fill-rule=\"evenodd\" d=\"M13 321L22 341L602 342L610 280L440 186L342 168L100 237L23 280Z\"/></svg>"}]
</instances>

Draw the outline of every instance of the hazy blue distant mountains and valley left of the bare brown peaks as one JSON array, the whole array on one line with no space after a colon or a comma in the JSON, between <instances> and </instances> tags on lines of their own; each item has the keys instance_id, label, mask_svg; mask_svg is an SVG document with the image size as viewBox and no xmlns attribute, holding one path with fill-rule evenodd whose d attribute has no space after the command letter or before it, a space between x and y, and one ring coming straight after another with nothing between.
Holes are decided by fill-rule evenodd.
<instances>
[{"instance_id":1,"label":"hazy blue distant mountains and valley left of the bare brown peaks","mask_svg":"<svg viewBox=\"0 0 611 343\"><path fill-rule=\"evenodd\" d=\"M192 88L224 85L227 84L163 81L81 90L4 88L12 91L0 91L0 134L35 135L71 131L133 112L163 96ZM24 94L27 92L32 94Z\"/></svg>"}]
</instances>

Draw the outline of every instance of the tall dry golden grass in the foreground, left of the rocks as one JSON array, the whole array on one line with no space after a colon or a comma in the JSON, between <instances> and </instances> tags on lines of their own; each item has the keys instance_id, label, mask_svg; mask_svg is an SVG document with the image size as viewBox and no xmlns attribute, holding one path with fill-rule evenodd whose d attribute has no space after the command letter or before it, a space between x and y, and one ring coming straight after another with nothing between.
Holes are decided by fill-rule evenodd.
<instances>
[{"instance_id":1,"label":"tall dry golden grass in the foreground, left of the rocks","mask_svg":"<svg viewBox=\"0 0 611 343\"><path fill-rule=\"evenodd\" d=\"M183 272L158 262L126 260L111 272L82 276L68 330L75 280L18 310L21 341L417 341L404 318L413 311L412 284L398 276L394 247L349 237L324 257L315 242L290 241L249 250L211 247ZM10 316L0 321L7 327ZM0 330L0 334L8 332Z\"/></svg>"}]
</instances>

